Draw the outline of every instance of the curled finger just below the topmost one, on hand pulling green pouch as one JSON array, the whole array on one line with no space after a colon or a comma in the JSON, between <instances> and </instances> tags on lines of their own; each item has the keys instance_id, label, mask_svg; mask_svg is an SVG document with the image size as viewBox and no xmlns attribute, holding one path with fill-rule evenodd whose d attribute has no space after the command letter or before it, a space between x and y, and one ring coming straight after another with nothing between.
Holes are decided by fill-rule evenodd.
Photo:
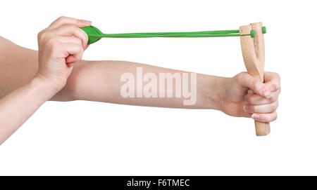
<instances>
[{"instance_id":1,"label":"curled finger just below the topmost one, on hand pulling green pouch","mask_svg":"<svg viewBox=\"0 0 317 190\"><path fill-rule=\"evenodd\" d=\"M82 47L85 48L88 43L88 36L82 29L75 25L63 25L56 29L51 30L52 33L58 36L75 36L82 41Z\"/></svg>"}]
</instances>

